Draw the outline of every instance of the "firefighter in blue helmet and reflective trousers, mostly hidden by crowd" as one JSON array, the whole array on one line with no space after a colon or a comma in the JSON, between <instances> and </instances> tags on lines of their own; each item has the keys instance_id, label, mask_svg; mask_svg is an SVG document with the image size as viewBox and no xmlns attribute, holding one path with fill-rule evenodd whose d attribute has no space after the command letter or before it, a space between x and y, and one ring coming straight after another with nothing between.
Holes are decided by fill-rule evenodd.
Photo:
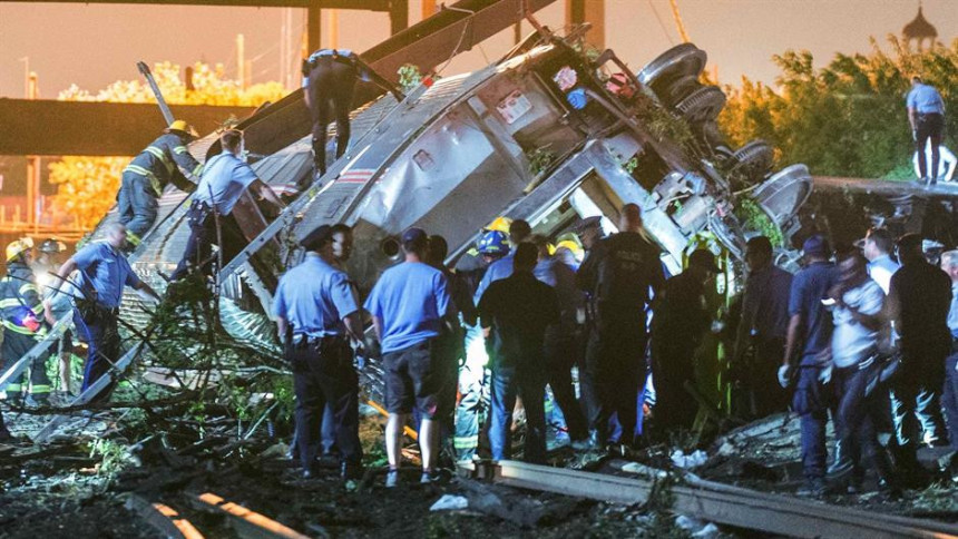
<instances>
[{"instance_id":1,"label":"firefighter in blue helmet and reflective trousers, mostly hidden by crowd","mask_svg":"<svg viewBox=\"0 0 958 539\"><path fill-rule=\"evenodd\" d=\"M470 257L467 262L459 261L456 274L478 290L488 266L509 253L508 238L501 231L487 231L479 239L477 251L478 257ZM469 265L466 265L467 263ZM482 329L473 322L466 327L466 361L459 367L460 398L456 409L456 435L452 444L456 458L460 461L472 460L479 448L480 425L485 424L489 404L486 369L488 362Z\"/></svg>"}]
</instances>

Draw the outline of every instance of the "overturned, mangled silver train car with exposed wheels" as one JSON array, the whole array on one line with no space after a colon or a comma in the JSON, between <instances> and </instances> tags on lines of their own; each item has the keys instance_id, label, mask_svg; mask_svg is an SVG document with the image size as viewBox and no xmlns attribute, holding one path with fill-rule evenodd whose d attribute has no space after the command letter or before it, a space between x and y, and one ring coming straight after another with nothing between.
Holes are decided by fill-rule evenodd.
<instances>
[{"instance_id":1,"label":"overturned, mangled silver train car with exposed wheels","mask_svg":"<svg viewBox=\"0 0 958 539\"><path fill-rule=\"evenodd\" d=\"M295 239L322 223L354 227L348 271L361 291L400 259L398 237L410 226L441 233L452 261L499 216L526 219L536 232L556 237L588 216L604 217L606 231L612 229L626 202L642 207L645 228L672 273L681 271L683 256L702 233L711 233L730 257L741 259L745 229L733 212L736 195L730 177L739 186L743 178L752 184L750 199L786 238L796 232L795 215L812 190L808 169L793 165L770 175L772 149L766 144L754 141L737 150L724 144L715 119L725 96L700 82L703 50L680 45L634 75L612 50L589 60L571 40L536 28L481 70L420 85L402 102L380 97L361 107L353 114L346 155L272 223L252 199L241 204L234 215L250 243L219 273L223 327L236 339L274 341L267 313L277 276L300 256ZM610 91L604 80L609 72L624 74L635 94ZM267 154L253 168L274 186L313 179L307 136L268 149L290 136L282 130L289 119L286 101L240 126L247 129L247 148ZM643 107L645 116L637 112ZM678 144L655 133L648 110L684 121L692 137ZM202 159L216 151L215 140L215 135L197 140L190 151ZM531 160L545 166L532 167ZM166 286L159 273L176 265L189 235L186 197L167 189L158 224L130 257L140 277L157 290ZM115 218L111 212L99 228ZM125 298L123 317L137 327L148 323L138 296ZM25 365L65 325L58 324ZM137 343L116 370L148 354ZM12 375L11 370L0 385ZM368 365L364 375L364 389L378 395L377 365ZM74 404L85 399L86 393ZM35 440L46 440L62 419Z\"/></svg>"}]
</instances>

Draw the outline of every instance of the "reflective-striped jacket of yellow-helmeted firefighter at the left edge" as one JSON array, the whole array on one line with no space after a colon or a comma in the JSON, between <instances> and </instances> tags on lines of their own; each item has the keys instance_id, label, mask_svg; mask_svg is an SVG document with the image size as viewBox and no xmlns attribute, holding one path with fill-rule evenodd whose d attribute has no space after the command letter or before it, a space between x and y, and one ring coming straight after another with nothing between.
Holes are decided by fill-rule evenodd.
<instances>
[{"instance_id":1,"label":"reflective-striped jacket of yellow-helmeted firefighter at the left edge","mask_svg":"<svg viewBox=\"0 0 958 539\"><path fill-rule=\"evenodd\" d=\"M43 303L33 271L22 261L7 264L7 276L0 278L0 323L22 335L43 335Z\"/></svg>"}]
</instances>

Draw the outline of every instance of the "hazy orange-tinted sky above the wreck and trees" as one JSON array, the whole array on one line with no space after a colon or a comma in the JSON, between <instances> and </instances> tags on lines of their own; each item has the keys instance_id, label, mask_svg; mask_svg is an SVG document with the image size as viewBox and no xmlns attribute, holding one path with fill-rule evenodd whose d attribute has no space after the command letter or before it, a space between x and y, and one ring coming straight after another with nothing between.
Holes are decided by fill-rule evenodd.
<instances>
[{"instance_id":1,"label":"hazy orange-tinted sky above the wreck and trees","mask_svg":"<svg viewBox=\"0 0 958 539\"><path fill-rule=\"evenodd\" d=\"M539 18L560 27L558 0ZM917 0L678 0L692 40L708 51L720 80L741 75L773 82L770 57L788 48L810 49L819 63L835 51L869 50L869 36L883 43L900 32ZM954 0L926 0L925 14L950 42L958 27ZM410 21L420 1L410 2ZM235 74L235 36L245 35L246 58L255 59L254 82L277 79L283 10L184 6L0 2L0 96L22 97L23 57L39 74L40 97L55 98L70 84L98 90L117 79L138 77L137 60L223 62ZM292 10L299 36L304 10ZM385 13L340 12L341 47L362 51L387 37ZM668 0L607 0L606 45L633 67L680 42ZM528 30L528 24L526 24ZM325 31L326 27L324 27ZM329 36L326 33L325 36ZM299 39L296 39L299 41ZM324 41L324 45L325 41ZM511 30L453 61L447 74L477 68L511 45ZM297 60L293 60L297 63Z\"/></svg>"}]
</instances>

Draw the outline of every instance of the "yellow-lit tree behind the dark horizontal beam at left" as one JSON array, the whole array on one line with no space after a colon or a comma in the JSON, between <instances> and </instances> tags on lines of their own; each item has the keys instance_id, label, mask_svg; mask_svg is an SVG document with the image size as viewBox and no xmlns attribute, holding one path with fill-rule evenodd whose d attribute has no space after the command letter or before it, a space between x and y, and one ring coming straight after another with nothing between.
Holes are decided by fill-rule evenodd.
<instances>
[{"instance_id":1,"label":"yellow-lit tree behind the dark horizontal beam at left","mask_svg":"<svg viewBox=\"0 0 958 539\"><path fill-rule=\"evenodd\" d=\"M280 82L243 89L225 77L222 65L193 65L193 89L179 77L179 66L156 63L153 75L164 98L172 105L221 105L258 107L281 99L286 90ZM153 91L140 80L118 80L91 94L76 85L59 95L67 101L154 102ZM224 118L224 121L226 118ZM123 168L130 157L67 156L50 164L50 183L59 186L52 197L55 212L76 216L80 227L91 229L116 202Z\"/></svg>"}]
</instances>

